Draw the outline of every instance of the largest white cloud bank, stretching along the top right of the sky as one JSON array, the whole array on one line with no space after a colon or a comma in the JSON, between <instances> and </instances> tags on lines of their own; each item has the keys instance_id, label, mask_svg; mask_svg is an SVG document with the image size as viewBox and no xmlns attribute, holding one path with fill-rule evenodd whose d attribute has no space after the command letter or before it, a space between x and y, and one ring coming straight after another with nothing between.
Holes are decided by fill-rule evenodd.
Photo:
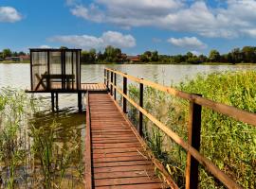
<instances>
[{"instance_id":1,"label":"largest white cloud bank, stretching along the top right of the sky","mask_svg":"<svg viewBox=\"0 0 256 189\"><path fill-rule=\"evenodd\" d=\"M201 0L94 0L88 6L75 3L71 13L85 20L122 28L155 26L206 37L256 37L253 31L256 29L256 1L223 2L221 7L212 8Z\"/></svg>"}]
</instances>

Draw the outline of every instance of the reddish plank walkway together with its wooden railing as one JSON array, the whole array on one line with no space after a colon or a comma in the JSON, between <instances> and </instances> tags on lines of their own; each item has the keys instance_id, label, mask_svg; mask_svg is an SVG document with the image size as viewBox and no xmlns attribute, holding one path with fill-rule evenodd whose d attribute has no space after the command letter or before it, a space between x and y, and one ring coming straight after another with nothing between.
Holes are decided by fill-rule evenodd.
<instances>
[{"instance_id":1,"label":"reddish plank walkway together with its wooden railing","mask_svg":"<svg viewBox=\"0 0 256 189\"><path fill-rule=\"evenodd\" d=\"M117 77L122 80L121 86ZM120 77L122 79L120 79ZM139 103L127 94L127 80L139 85ZM198 166L201 164L214 178L227 188L242 188L214 163L199 153L202 107L228 115L238 121L256 126L256 114L242 111L222 103L211 101L200 94L187 94L173 88L156 84L146 79L132 77L116 70L104 70L106 93L87 93L86 136L85 136L85 188L178 188L162 163L155 159L143 139L143 117L147 117L161 129L174 143L187 151L184 176L186 189L196 189L199 184ZM188 142L172 129L158 121L143 108L143 88L174 95L190 102ZM121 105L117 94L121 96ZM138 111L138 125L128 119L127 103ZM155 170L160 173L155 175ZM160 179L159 179L160 178Z\"/></svg>"}]
</instances>

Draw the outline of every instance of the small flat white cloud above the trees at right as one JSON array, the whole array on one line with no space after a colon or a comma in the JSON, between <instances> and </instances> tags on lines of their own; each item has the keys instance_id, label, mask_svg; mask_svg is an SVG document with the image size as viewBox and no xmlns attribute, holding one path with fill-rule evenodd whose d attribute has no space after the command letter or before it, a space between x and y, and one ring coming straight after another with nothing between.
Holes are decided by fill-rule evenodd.
<instances>
[{"instance_id":1,"label":"small flat white cloud above the trees at right","mask_svg":"<svg viewBox=\"0 0 256 189\"><path fill-rule=\"evenodd\" d=\"M205 49L207 44L202 43L196 37L184 37L184 38L170 38L169 43L178 47L192 48L192 49Z\"/></svg>"}]
</instances>

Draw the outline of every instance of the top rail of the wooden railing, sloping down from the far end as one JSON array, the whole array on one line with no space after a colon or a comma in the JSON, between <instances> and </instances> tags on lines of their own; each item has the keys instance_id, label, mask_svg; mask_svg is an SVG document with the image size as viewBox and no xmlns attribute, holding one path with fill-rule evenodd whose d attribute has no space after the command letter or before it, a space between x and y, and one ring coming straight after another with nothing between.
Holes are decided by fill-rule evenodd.
<instances>
[{"instance_id":1,"label":"top rail of the wooden railing, sloping down from the far end","mask_svg":"<svg viewBox=\"0 0 256 189\"><path fill-rule=\"evenodd\" d=\"M205 97L201 97L199 95L188 94L188 93L185 93L185 92L181 92L181 91L175 90L174 88L166 87L166 86L154 83L154 82L152 82L150 80L147 80L147 79L140 79L140 78L137 78L137 77L132 77L132 76L126 75L124 73L121 73L119 71L109 69L109 68L105 68L105 69L107 71L116 73L119 76L126 77L126 78L129 78L129 79L133 80L133 81L136 81L137 83L141 83L141 84L147 85L149 87L155 88L159 91L166 92L168 94L173 94L174 96L192 101L192 102L194 102L198 105L207 107L207 108L209 108L209 109L211 109L215 112L220 112L220 113L229 115L230 117L236 119L237 121L242 121L242 122L245 122L247 124L251 124L253 126L256 126L256 114L255 113L246 112L246 111L234 108L234 107L226 105L226 104L222 104L222 103L219 103L219 102L214 102L210 99L207 99Z\"/></svg>"}]
</instances>

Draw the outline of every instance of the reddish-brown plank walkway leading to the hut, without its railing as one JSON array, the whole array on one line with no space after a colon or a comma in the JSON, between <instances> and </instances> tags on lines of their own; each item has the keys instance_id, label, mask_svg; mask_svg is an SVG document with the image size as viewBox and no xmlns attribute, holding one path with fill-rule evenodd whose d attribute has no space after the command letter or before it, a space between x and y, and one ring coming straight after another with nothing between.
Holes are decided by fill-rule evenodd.
<instances>
[{"instance_id":1,"label":"reddish-brown plank walkway leading to the hut, without its railing","mask_svg":"<svg viewBox=\"0 0 256 189\"><path fill-rule=\"evenodd\" d=\"M86 188L166 188L111 96L88 94L87 100Z\"/></svg>"}]
</instances>

